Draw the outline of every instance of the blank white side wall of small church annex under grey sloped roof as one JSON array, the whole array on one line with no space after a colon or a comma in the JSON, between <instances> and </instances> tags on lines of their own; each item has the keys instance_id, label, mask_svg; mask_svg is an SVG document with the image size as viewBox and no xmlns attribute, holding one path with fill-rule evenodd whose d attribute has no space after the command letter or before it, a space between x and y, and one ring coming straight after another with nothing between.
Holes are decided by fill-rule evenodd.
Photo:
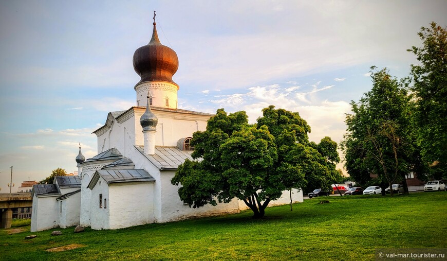
<instances>
[{"instance_id":1,"label":"blank white side wall of small church annex under grey sloped roof","mask_svg":"<svg viewBox=\"0 0 447 261\"><path fill-rule=\"evenodd\" d=\"M155 222L153 182L110 184L109 198L109 229Z\"/></svg>"}]
</instances>

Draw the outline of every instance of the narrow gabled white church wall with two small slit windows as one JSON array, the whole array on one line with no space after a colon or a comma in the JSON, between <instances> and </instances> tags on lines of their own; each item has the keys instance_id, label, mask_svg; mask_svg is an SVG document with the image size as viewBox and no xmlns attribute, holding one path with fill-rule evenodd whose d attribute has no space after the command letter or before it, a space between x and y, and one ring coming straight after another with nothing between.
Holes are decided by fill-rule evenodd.
<instances>
[{"instance_id":1,"label":"narrow gabled white church wall with two small slit windows","mask_svg":"<svg viewBox=\"0 0 447 261\"><path fill-rule=\"evenodd\" d=\"M102 207L100 208L100 197L102 194ZM104 200L105 199L105 200ZM104 201L107 203L105 204ZM95 187L91 189L91 198L90 198L90 226L91 229L102 230L109 229L109 190L107 182L99 177L98 182Z\"/></svg>"}]
</instances>

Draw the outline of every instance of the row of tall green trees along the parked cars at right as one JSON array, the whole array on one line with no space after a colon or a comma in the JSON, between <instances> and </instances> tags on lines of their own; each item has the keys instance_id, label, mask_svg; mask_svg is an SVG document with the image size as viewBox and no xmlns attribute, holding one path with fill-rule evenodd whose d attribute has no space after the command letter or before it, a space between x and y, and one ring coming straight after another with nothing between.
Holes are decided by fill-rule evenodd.
<instances>
[{"instance_id":1,"label":"row of tall green trees along the parked cars at right","mask_svg":"<svg viewBox=\"0 0 447 261\"><path fill-rule=\"evenodd\" d=\"M373 174L382 188L402 182L408 192L411 171L421 180L447 178L446 28L432 22L418 36L422 46L407 50L419 62L409 77L398 80L371 66L373 88L350 103L341 148L345 168L360 184Z\"/></svg>"}]
</instances>

